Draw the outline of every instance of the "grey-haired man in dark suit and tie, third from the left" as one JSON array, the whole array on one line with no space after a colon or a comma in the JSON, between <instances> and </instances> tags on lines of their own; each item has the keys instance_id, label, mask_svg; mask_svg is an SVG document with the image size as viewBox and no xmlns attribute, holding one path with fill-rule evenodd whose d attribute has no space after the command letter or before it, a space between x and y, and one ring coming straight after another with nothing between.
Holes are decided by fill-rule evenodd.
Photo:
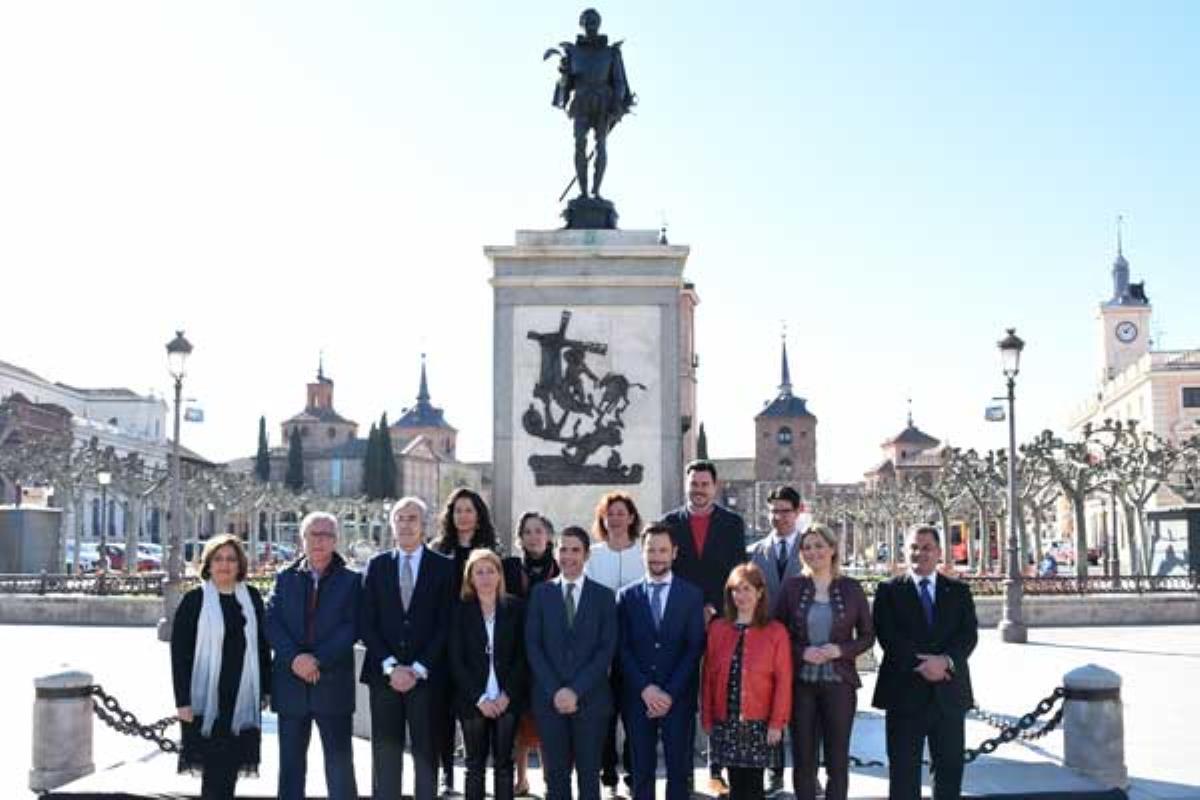
<instances>
[{"instance_id":1,"label":"grey-haired man in dark suit and tie, third from the left","mask_svg":"<svg viewBox=\"0 0 1200 800\"><path fill-rule=\"evenodd\" d=\"M426 506L401 498L391 509L396 549L367 564L360 631L360 680L371 691L371 782L374 800L400 800L406 734L412 739L415 800L436 796L433 705L449 678L446 630L454 561L424 545Z\"/></svg>"}]
</instances>

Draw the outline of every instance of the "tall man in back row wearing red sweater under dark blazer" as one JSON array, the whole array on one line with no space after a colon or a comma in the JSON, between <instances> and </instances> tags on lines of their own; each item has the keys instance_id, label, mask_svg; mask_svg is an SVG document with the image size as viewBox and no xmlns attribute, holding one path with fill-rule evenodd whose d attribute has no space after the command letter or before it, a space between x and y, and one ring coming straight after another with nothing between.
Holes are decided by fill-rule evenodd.
<instances>
[{"instance_id":1,"label":"tall man in back row wearing red sweater under dark blazer","mask_svg":"<svg viewBox=\"0 0 1200 800\"><path fill-rule=\"evenodd\" d=\"M704 622L721 613L725 581L738 564L746 560L746 527L742 517L716 504L716 464L694 461L684 470L688 504L662 518L678 548L674 573L700 587L704 595ZM692 736L698 726L692 726ZM708 788L712 794L728 794L721 768L708 764Z\"/></svg>"}]
</instances>

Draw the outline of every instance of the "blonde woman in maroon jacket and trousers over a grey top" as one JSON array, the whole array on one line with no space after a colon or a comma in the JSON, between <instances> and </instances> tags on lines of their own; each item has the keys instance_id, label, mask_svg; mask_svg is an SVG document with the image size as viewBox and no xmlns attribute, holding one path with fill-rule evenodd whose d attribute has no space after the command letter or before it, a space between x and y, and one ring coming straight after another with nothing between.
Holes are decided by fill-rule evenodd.
<instances>
[{"instance_id":1,"label":"blonde woman in maroon jacket and trousers over a grey top","mask_svg":"<svg viewBox=\"0 0 1200 800\"><path fill-rule=\"evenodd\" d=\"M800 536L804 575L784 582L775 618L787 626L796 664L792 692L792 788L817 796L817 742L824 753L826 800L846 800L850 732L863 681L854 658L875 643L862 584L841 575L838 537L824 525Z\"/></svg>"}]
</instances>

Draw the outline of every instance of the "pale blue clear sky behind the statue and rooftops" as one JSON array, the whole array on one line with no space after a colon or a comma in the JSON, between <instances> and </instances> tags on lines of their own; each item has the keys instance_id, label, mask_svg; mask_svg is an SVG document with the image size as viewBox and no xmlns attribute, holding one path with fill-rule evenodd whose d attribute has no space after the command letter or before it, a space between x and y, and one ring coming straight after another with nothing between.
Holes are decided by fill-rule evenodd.
<instances>
[{"instance_id":1,"label":"pale blue clear sky behind the statue and rooftops","mask_svg":"<svg viewBox=\"0 0 1200 800\"><path fill-rule=\"evenodd\" d=\"M317 353L362 423L430 354L461 455L491 455L484 245L558 225L570 130L546 47L582 5L0 6L0 359L188 395L215 458L300 410ZM607 2L641 104L610 148L628 228L688 243L700 416L749 455L792 377L822 480L917 423L982 421L1028 342L1021 435L1094 386L1114 218L1166 348L1200 347L1200 5Z\"/></svg>"}]
</instances>

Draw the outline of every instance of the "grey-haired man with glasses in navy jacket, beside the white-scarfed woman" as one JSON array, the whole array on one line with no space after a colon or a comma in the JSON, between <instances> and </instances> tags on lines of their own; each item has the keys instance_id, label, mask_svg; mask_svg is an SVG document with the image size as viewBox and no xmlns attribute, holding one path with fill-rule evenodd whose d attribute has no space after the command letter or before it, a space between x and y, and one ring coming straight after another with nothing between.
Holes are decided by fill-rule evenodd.
<instances>
[{"instance_id":1,"label":"grey-haired man with glasses in navy jacket, beside the white-scarfed woman","mask_svg":"<svg viewBox=\"0 0 1200 800\"><path fill-rule=\"evenodd\" d=\"M354 642L359 576L337 554L337 518L300 522L304 555L275 577L266 637L275 650L271 708L280 717L280 800L304 800L312 723L320 732L330 800L358 800L354 750Z\"/></svg>"}]
</instances>

